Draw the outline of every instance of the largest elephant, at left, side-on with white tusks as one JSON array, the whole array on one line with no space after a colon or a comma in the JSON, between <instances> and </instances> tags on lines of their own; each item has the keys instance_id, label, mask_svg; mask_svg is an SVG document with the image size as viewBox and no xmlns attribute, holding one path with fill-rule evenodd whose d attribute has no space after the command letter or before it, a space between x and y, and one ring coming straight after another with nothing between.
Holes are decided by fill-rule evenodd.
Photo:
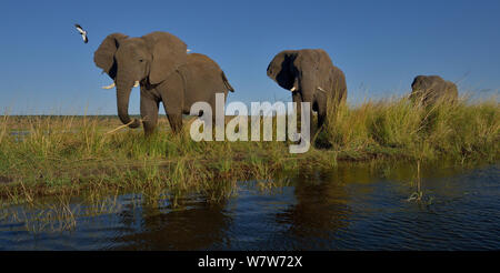
<instances>
[{"instance_id":1,"label":"largest elephant, at left, side-on with white tusks","mask_svg":"<svg viewBox=\"0 0 500 273\"><path fill-rule=\"evenodd\" d=\"M159 103L163 103L173 132L182 128L182 114L194 102L216 107L216 93L233 92L219 65L199 53L188 53L183 41L168 32L156 31L140 38L109 34L94 52L96 65L103 69L117 87L118 117L130 128L140 120L130 119L129 98L136 82L140 84L140 112L144 134L158 123Z\"/></svg>"}]
</instances>

